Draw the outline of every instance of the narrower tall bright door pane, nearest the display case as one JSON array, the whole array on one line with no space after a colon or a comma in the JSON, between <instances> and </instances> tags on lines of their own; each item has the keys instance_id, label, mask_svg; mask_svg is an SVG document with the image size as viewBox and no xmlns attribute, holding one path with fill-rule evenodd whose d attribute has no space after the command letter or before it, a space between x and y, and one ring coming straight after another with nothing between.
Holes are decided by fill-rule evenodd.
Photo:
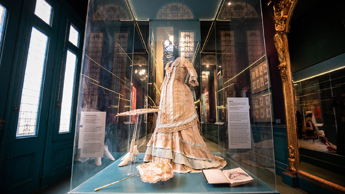
<instances>
[{"instance_id":1,"label":"narrower tall bright door pane, nearest the display case","mask_svg":"<svg viewBox=\"0 0 345 194\"><path fill-rule=\"evenodd\" d=\"M64 89L61 101L61 115L60 115L60 128L59 133L70 131L72 100L73 100L73 87L74 87L74 74L77 62L77 56L67 51L66 70L64 76Z\"/></svg>"}]
</instances>

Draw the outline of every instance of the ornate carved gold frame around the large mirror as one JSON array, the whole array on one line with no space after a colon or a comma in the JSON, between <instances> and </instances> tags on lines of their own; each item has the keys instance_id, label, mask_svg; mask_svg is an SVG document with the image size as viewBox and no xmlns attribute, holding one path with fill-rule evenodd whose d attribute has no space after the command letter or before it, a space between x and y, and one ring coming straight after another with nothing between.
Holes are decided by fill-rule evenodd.
<instances>
[{"instance_id":1,"label":"ornate carved gold frame around the large mirror","mask_svg":"<svg viewBox=\"0 0 345 194\"><path fill-rule=\"evenodd\" d=\"M297 143L297 124L293 80L291 73L289 44L287 43L287 33L290 32L290 20L298 0L271 0L273 3L275 31L274 44L278 52L279 70L283 85L283 97L285 107L286 135L289 166L286 174L302 177L312 183L323 186L329 190L343 193L345 187L310 175L300 170L299 150Z\"/></svg>"}]
</instances>

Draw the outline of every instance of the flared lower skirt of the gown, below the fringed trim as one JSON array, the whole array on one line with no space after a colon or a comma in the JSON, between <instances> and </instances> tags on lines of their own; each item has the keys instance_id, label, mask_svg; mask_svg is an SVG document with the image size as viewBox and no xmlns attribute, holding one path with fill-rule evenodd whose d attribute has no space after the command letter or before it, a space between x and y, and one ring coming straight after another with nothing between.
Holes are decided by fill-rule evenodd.
<instances>
[{"instance_id":1,"label":"flared lower skirt of the gown, below the fringed trim","mask_svg":"<svg viewBox=\"0 0 345 194\"><path fill-rule=\"evenodd\" d=\"M154 133L147 144L144 162L166 162L175 172L201 172L222 169L226 161L210 153L199 133L197 123L171 133Z\"/></svg>"}]
</instances>

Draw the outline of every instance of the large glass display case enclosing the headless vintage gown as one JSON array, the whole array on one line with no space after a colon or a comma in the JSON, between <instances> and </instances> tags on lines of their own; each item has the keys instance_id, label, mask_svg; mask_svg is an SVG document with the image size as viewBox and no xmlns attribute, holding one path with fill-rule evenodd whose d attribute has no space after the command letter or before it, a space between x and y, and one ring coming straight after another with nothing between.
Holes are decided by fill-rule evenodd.
<instances>
[{"instance_id":1,"label":"large glass display case enclosing the headless vintage gown","mask_svg":"<svg viewBox=\"0 0 345 194\"><path fill-rule=\"evenodd\" d=\"M70 193L277 192L260 1L90 0L83 49ZM174 177L143 182L155 157Z\"/></svg>"}]
</instances>

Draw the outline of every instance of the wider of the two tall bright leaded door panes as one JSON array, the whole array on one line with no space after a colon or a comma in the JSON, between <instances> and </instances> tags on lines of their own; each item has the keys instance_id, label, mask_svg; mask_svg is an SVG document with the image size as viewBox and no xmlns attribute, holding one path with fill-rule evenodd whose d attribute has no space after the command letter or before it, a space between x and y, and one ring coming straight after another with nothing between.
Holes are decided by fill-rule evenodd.
<instances>
[{"instance_id":1,"label":"wider of the two tall bright leaded door panes","mask_svg":"<svg viewBox=\"0 0 345 194\"><path fill-rule=\"evenodd\" d=\"M33 27L20 101L17 136L35 135L48 37Z\"/></svg>"}]
</instances>

